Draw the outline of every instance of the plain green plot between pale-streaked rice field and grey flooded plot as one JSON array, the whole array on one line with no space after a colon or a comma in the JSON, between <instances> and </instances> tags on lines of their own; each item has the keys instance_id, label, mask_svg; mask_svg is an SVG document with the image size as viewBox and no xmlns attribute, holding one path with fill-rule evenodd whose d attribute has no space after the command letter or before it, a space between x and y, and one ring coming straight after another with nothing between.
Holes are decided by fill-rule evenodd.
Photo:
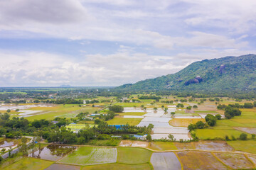
<instances>
[{"instance_id":1,"label":"plain green plot between pale-streaked rice field and grey flooded plot","mask_svg":"<svg viewBox=\"0 0 256 170\"><path fill-rule=\"evenodd\" d=\"M144 164L150 161L152 152L143 148L117 148L117 163Z\"/></svg>"}]
</instances>

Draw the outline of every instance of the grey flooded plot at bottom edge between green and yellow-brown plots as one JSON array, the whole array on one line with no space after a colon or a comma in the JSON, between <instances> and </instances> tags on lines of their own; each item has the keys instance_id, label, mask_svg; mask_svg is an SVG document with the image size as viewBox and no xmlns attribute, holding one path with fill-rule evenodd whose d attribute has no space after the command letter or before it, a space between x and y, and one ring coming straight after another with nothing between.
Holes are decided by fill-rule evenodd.
<instances>
[{"instance_id":1,"label":"grey flooded plot at bottom edge between green and yellow-brown plots","mask_svg":"<svg viewBox=\"0 0 256 170\"><path fill-rule=\"evenodd\" d=\"M178 161L174 152L153 153L150 159L155 170L178 170L181 163Z\"/></svg>"}]
</instances>

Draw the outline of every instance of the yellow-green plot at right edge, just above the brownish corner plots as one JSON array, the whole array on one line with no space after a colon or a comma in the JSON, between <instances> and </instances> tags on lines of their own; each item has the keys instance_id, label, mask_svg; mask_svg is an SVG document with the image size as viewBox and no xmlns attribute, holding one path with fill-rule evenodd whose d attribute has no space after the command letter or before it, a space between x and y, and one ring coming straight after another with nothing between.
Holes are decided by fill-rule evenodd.
<instances>
[{"instance_id":1,"label":"yellow-green plot at right edge, just above the brownish corner plots","mask_svg":"<svg viewBox=\"0 0 256 170\"><path fill-rule=\"evenodd\" d=\"M233 147L235 150L249 152L252 154L256 154L256 141L255 140L235 140L228 141L228 145Z\"/></svg>"}]
</instances>

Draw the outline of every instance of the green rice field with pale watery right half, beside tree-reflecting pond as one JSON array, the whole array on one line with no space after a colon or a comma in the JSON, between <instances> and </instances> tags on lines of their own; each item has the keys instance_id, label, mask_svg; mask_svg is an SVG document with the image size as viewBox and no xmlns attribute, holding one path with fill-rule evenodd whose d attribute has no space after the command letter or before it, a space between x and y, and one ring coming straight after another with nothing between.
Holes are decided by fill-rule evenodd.
<instances>
[{"instance_id":1,"label":"green rice field with pale watery right half, beside tree-reflecting pond","mask_svg":"<svg viewBox=\"0 0 256 170\"><path fill-rule=\"evenodd\" d=\"M75 152L60 159L63 164L108 164L117 162L117 149L109 147L79 147Z\"/></svg>"}]
</instances>

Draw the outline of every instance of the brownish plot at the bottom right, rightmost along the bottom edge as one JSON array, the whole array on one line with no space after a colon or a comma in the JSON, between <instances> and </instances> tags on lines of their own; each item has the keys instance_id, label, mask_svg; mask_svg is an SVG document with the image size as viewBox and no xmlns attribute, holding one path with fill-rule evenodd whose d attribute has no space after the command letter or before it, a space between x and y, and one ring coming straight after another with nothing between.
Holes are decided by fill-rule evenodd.
<instances>
[{"instance_id":1,"label":"brownish plot at the bottom right, rightmost along the bottom edge","mask_svg":"<svg viewBox=\"0 0 256 170\"><path fill-rule=\"evenodd\" d=\"M244 154L215 153L224 164L233 169L252 169L253 164L247 160Z\"/></svg>"}]
</instances>

